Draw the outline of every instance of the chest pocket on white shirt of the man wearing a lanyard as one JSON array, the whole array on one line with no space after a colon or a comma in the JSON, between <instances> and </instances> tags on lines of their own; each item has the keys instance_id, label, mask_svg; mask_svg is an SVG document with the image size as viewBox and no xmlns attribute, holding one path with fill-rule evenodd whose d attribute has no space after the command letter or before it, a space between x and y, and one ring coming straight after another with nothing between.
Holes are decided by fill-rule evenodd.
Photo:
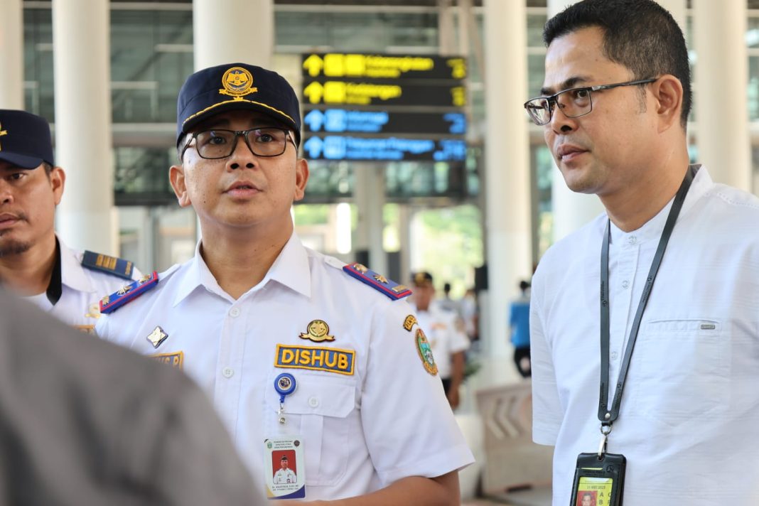
<instances>
[{"instance_id":1,"label":"chest pocket on white shirt of the man wearing a lanyard","mask_svg":"<svg viewBox=\"0 0 759 506\"><path fill-rule=\"evenodd\" d=\"M713 319L657 320L641 328L631 360L638 370L636 414L672 427L723 416L731 359L724 334Z\"/></svg>"}]
</instances>

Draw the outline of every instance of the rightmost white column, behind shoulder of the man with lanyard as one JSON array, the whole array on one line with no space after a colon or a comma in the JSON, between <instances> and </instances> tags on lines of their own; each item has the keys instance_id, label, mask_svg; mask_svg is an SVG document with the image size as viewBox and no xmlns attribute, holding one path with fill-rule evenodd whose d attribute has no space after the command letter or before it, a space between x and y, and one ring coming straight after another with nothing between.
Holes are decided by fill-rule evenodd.
<instances>
[{"instance_id":1,"label":"rightmost white column, behind shoulder of the man with lanyard","mask_svg":"<svg viewBox=\"0 0 759 506\"><path fill-rule=\"evenodd\" d=\"M694 0L698 161L714 181L751 191L745 0Z\"/></svg>"}]
</instances>

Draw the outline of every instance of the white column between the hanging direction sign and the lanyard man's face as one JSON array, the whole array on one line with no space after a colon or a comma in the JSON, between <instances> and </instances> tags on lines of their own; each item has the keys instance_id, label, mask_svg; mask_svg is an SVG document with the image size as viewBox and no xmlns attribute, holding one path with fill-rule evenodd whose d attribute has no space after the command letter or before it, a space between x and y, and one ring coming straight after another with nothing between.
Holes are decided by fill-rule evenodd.
<instances>
[{"instance_id":1,"label":"white column between the hanging direction sign and the lanyard man's face","mask_svg":"<svg viewBox=\"0 0 759 506\"><path fill-rule=\"evenodd\" d=\"M527 11L524 2L484 0L485 138L488 294L487 335L492 357L509 352L506 313L520 278L531 267L530 152L527 96Z\"/></svg>"}]
</instances>

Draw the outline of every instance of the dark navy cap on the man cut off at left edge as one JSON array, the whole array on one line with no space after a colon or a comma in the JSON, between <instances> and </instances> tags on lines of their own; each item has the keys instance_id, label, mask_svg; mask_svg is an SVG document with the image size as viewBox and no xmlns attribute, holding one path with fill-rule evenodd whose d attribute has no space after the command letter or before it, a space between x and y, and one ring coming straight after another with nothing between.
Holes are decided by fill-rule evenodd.
<instances>
[{"instance_id":1,"label":"dark navy cap on the man cut off at left edge","mask_svg":"<svg viewBox=\"0 0 759 506\"><path fill-rule=\"evenodd\" d=\"M0 160L20 168L55 165L50 125L26 111L0 109Z\"/></svg>"}]
</instances>

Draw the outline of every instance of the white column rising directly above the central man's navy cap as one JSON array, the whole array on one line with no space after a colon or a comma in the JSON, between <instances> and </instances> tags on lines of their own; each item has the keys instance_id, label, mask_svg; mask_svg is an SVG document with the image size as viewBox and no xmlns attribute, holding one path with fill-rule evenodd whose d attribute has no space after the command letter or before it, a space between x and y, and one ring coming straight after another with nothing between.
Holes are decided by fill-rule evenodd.
<instances>
[{"instance_id":1,"label":"white column rising directly above the central man's navy cap","mask_svg":"<svg viewBox=\"0 0 759 506\"><path fill-rule=\"evenodd\" d=\"M273 0L193 0L195 70L241 62L270 68Z\"/></svg>"}]
</instances>

